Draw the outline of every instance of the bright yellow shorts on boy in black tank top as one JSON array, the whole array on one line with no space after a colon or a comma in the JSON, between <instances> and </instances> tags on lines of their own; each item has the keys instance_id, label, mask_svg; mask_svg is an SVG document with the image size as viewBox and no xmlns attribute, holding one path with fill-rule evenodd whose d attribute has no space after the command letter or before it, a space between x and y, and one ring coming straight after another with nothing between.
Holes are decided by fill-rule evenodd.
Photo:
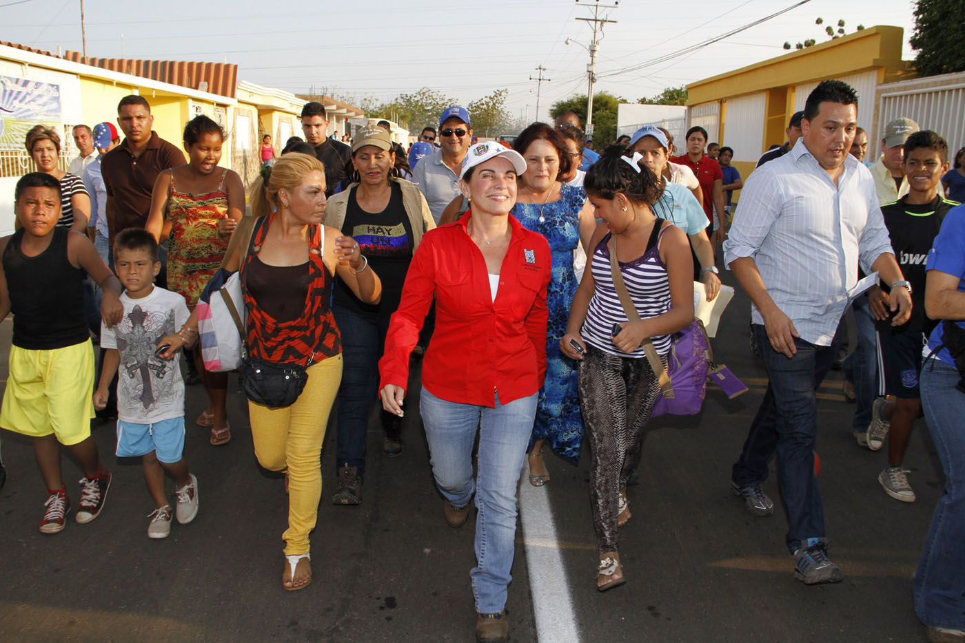
<instances>
[{"instance_id":1,"label":"bright yellow shorts on boy in black tank top","mask_svg":"<svg viewBox=\"0 0 965 643\"><path fill-rule=\"evenodd\" d=\"M62 444L91 437L94 417L94 345L91 340L45 351L10 347L10 376L0 427Z\"/></svg>"}]
</instances>

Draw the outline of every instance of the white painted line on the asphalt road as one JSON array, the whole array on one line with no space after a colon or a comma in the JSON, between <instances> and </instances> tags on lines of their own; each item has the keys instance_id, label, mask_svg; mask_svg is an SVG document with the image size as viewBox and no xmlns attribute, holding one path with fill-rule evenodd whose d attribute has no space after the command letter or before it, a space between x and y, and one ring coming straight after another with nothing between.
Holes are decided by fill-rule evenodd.
<instances>
[{"instance_id":1,"label":"white painted line on the asphalt road","mask_svg":"<svg viewBox=\"0 0 965 643\"><path fill-rule=\"evenodd\" d=\"M573 620L563 557L561 549L556 546L556 524L547 500L550 489L531 485L527 473L529 469L524 467L519 489L519 517L530 573L537 640L540 643L579 643L580 634Z\"/></svg>"}]
</instances>

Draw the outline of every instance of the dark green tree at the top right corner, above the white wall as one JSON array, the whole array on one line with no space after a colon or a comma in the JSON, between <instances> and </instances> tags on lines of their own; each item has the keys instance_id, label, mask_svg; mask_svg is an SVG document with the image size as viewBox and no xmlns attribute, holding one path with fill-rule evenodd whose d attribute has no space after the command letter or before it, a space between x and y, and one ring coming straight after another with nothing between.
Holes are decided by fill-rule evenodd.
<instances>
[{"instance_id":1,"label":"dark green tree at the top right corner, above the white wall","mask_svg":"<svg viewBox=\"0 0 965 643\"><path fill-rule=\"evenodd\" d=\"M962 0L918 0L911 46L918 50L912 66L923 76L965 71L962 48L965 3Z\"/></svg>"}]
</instances>

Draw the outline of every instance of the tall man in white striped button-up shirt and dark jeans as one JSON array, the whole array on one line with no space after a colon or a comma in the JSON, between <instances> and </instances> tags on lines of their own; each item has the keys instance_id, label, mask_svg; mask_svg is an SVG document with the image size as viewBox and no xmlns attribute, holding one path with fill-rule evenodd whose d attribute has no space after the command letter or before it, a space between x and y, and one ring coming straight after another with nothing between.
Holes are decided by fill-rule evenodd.
<instances>
[{"instance_id":1,"label":"tall man in white striped button-up shirt and dark jeans","mask_svg":"<svg viewBox=\"0 0 965 643\"><path fill-rule=\"evenodd\" d=\"M755 341L770 379L731 485L752 513L773 513L760 484L777 453L787 548L795 576L809 585L843 578L826 553L814 474L814 391L837 356L836 331L859 262L891 284L894 323L911 314L909 286L892 254L874 181L848 153L857 116L849 85L820 83L808 96L804 136L750 175L724 244L725 260L753 302Z\"/></svg>"}]
</instances>

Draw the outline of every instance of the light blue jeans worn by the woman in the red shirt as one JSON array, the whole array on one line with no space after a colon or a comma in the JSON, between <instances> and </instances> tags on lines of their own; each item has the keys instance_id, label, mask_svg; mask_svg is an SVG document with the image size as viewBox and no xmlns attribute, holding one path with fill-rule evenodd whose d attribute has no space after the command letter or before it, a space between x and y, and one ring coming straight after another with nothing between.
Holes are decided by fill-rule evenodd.
<instances>
[{"instance_id":1,"label":"light blue jeans worn by the woman in the red shirt","mask_svg":"<svg viewBox=\"0 0 965 643\"><path fill-rule=\"evenodd\" d=\"M435 484L454 507L476 493L476 567L472 579L476 611L506 607L516 537L516 481L533 433L537 393L495 408L459 404L422 389L419 411L426 426ZM479 470L473 478L473 442L479 428Z\"/></svg>"}]
</instances>

